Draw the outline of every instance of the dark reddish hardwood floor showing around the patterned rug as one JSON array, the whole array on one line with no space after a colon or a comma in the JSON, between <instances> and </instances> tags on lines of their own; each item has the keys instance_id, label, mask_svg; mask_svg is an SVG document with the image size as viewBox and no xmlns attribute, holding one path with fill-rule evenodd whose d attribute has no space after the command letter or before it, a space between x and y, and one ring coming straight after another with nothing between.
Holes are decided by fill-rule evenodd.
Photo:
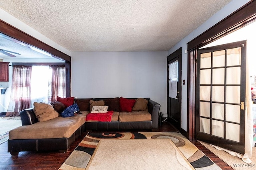
<instances>
[{"instance_id":1,"label":"dark reddish hardwood floor showing around the patterned rug","mask_svg":"<svg viewBox=\"0 0 256 170\"><path fill-rule=\"evenodd\" d=\"M170 123L164 122L159 127L160 132L175 132L177 131ZM83 133L70 147L68 152L59 153L56 152L20 152L18 157L12 157L7 152L7 142L0 145L0 170L54 170L58 169L62 163L68 158L71 152L86 136ZM223 170L233 169L228 164L223 162L210 150L204 147L197 141L192 142L198 149L202 150L206 156L208 156L213 162L215 162Z\"/></svg>"}]
</instances>

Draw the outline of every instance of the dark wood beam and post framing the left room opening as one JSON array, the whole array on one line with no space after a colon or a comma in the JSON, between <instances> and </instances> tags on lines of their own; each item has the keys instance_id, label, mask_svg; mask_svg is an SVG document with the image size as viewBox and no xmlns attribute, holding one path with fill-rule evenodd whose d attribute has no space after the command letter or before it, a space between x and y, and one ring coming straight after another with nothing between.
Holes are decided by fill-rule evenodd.
<instances>
[{"instance_id":1,"label":"dark wood beam and post framing the left room opening","mask_svg":"<svg viewBox=\"0 0 256 170\"><path fill-rule=\"evenodd\" d=\"M66 55L65 53L62 53L61 51L51 47L50 45L47 45L46 43L32 37L31 35L28 35L27 33L24 33L23 31L17 29L16 27L13 27L12 25L0 20L0 33L3 33L4 35L7 35L10 37L10 39L13 39L16 43L20 43L24 45L23 43L26 43L27 47L30 47L32 49L37 48L42 51L45 51L46 53L50 54L50 56L60 59L62 61L65 61L66 65L66 97L70 97L70 87L71 87L71 57L69 55ZM17 41L18 40L18 41ZM68 64L67 64L68 63Z\"/></svg>"}]
</instances>

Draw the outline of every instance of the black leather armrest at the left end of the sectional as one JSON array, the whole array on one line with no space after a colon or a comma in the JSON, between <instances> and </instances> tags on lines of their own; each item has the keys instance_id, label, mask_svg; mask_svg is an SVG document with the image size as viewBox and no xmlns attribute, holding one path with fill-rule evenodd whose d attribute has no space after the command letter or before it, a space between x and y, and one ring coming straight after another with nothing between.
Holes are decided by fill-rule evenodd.
<instances>
[{"instance_id":1,"label":"black leather armrest at the left end of the sectional","mask_svg":"<svg viewBox=\"0 0 256 170\"><path fill-rule=\"evenodd\" d=\"M32 125L38 122L38 119L36 118L33 108L24 109L20 111L20 119L21 119L22 126Z\"/></svg>"}]
</instances>

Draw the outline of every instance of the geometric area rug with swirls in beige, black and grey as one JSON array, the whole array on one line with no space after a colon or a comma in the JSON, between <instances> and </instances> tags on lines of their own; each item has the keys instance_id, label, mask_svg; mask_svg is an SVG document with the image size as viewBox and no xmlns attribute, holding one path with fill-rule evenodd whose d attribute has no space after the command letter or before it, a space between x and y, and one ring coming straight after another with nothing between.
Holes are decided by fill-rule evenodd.
<instances>
[{"instance_id":1,"label":"geometric area rug with swirls in beige, black and grey","mask_svg":"<svg viewBox=\"0 0 256 170\"><path fill-rule=\"evenodd\" d=\"M62 166L60 166L59 170L88 169L90 168L90 164L95 163L93 162L95 160L94 156L97 156L97 152L98 152L97 149L100 149L102 145L101 141L109 140L109 144L106 144L106 146L108 146L114 143L113 140L128 140L128 139L140 139L140 140L141 139L144 139L144 140L171 139L172 142L175 144L174 146L178 148L179 150L178 152L182 154L183 158L188 162L188 164L190 164L190 169L194 168L196 170L220 170L220 168L214 162L212 162L212 160L210 160L203 152L198 150L198 148L194 146L190 141L188 141L188 139L186 139L181 133L176 133L176 132L124 132L124 133L91 132L91 133L88 133L86 137L84 137L84 139L80 142L80 144L76 147L76 149L70 154L70 156L62 164ZM105 142L102 142L102 143L105 143ZM110 149L115 147L120 147L119 145L115 145L115 144L113 145L114 147L110 147ZM122 146L127 147L125 146L125 143ZM129 147L129 148L131 148L131 150L126 150L126 152L130 152L130 154L133 154L132 147ZM165 144L163 145L160 144L160 149L161 148L169 149L168 147L166 147ZM106 150L106 152L108 151L110 152L111 150ZM156 150L154 151L154 148L150 150L150 153L152 153L153 155L155 152ZM155 154L154 156L158 157L157 154ZM112 157L114 157L114 155ZM161 159L162 161L164 161L164 158L161 158ZM124 160L117 160L117 161L119 161L118 163L120 163ZM171 159L170 162L172 161L173 160ZM107 167L108 166L104 167L104 169L108 169ZM120 168L111 167L111 169L120 169ZM130 168L127 167L126 169L130 169ZM143 169L153 169L153 168L146 166ZM172 167L165 167L160 169L184 169L184 168L179 168L179 166L174 165Z\"/></svg>"}]
</instances>

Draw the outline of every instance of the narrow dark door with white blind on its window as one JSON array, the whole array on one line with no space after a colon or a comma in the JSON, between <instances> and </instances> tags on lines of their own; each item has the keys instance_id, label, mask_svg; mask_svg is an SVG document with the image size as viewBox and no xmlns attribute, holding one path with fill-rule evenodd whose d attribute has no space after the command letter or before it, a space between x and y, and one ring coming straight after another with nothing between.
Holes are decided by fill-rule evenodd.
<instances>
[{"instance_id":1,"label":"narrow dark door with white blind on its window","mask_svg":"<svg viewBox=\"0 0 256 170\"><path fill-rule=\"evenodd\" d=\"M167 57L168 121L181 129L181 48Z\"/></svg>"}]
</instances>

